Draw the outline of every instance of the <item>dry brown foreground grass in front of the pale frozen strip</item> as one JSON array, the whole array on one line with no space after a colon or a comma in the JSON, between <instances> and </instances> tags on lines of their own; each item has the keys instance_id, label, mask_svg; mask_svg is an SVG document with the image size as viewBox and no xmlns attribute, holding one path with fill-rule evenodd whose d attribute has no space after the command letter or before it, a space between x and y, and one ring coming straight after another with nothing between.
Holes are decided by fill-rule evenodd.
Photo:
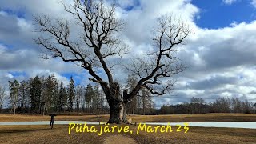
<instances>
[{"instance_id":1,"label":"dry brown foreground grass in front of the pale frozen strip","mask_svg":"<svg viewBox=\"0 0 256 144\"><path fill-rule=\"evenodd\" d=\"M113 125L112 125L113 126ZM97 126L99 130L99 126ZM137 126L130 126L133 131ZM174 129L175 131L175 129ZM126 144L127 139L137 143L256 143L256 130L190 127L190 130L172 133L118 134L115 132L98 136L95 133L68 134L68 125L54 126L0 126L0 143L104 143L120 140ZM120 143L119 142L119 143Z\"/></svg>"}]
</instances>

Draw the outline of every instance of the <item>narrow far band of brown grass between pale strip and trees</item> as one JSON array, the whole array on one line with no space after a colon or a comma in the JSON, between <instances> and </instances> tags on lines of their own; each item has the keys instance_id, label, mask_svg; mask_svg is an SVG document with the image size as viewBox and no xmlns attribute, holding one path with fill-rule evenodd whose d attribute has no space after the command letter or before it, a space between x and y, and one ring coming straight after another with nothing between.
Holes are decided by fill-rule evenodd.
<instances>
[{"instance_id":1,"label":"narrow far band of brown grass between pale strip and trees","mask_svg":"<svg viewBox=\"0 0 256 144\"><path fill-rule=\"evenodd\" d=\"M107 122L109 115L99 115L101 122ZM256 114L170 114L170 115L130 115L133 122L256 122ZM98 122L96 115L58 115L58 121ZM50 121L50 116L0 114L0 122Z\"/></svg>"}]
</instances>

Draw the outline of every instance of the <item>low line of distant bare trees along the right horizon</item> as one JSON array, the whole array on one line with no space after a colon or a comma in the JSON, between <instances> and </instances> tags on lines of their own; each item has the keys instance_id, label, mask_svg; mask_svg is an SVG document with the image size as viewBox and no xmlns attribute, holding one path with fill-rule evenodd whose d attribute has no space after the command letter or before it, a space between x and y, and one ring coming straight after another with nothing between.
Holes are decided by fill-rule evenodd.
<instances>
[{"instance_id":1,"label":"low line of distant bare trees along the right horizon","mask_svg":"<svg viewBox=\"0 0 256 144\"><path fill-rule=\"evenodd\" d=\"M159 114L206 114L206 113L256 113L256 103L239 98L218 97L214 102L205 102L202 98L191 98L190 102L177 105L163 105Z\"/></svg>"}]
</instances>

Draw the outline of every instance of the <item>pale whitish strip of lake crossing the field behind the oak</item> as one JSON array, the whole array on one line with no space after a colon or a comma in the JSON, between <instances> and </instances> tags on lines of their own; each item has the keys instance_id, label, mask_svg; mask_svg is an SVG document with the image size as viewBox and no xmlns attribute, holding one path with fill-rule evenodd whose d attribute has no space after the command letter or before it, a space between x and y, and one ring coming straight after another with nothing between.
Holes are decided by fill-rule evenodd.
<instances>
[{"instance_id":1,"label":"pale whitish strip of lake crossing the field behind the oak","mask_svg":"<svg viewBox=\"0 0 256 144\"><path fill-rule=\"evenodd\" d=\"M54 121L54 124L65 125L69 123L84 124L85 121ZM101 122L104 124L105 122ZM184 126L185 122L142 122L147 125L162 125L167 126ZM256 129L256 122L186 122L188 126L199 126L199 127L226 127L226 128L246 128ZM50 121L37 121L37 122L0 122L0 126L10 125L49 125ZM98 125L98 122L86 122L86 124Z\"/></svg>"}]
</instances>

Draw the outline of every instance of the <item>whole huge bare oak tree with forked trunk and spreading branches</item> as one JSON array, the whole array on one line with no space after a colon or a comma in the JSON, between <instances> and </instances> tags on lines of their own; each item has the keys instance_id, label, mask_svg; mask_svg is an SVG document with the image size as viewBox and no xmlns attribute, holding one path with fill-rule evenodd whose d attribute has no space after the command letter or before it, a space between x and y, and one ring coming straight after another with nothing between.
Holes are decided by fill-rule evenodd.
<instances>
[{"instance_id":1,"label":"whole huge bare oak tree with forked trunk and spreading branches","mask_svg":"<svg viewBox=\"0 0 256 144\"><path fill-rule=\"evenodd\" d=\"M107 6L103 1L74 0L73 4L62 2L67 13L76 18L74 24L80 27L79 35L71 36L72 22L63 19L53 21L46 15L34 18L38 32L43 33L35 40L38 45L46 48L48 53L44 58L62 58L64 62L76 62L91 75L90 81L102 86L110 106L109 123L127 122L126 104L134 98L139 90L145 87L151 94L166 94L173 82L166 82L184 69L176 65L174 58L175 46L191 34L186 23L175 21L172 17L159 19L159 27L155 30L154 51L150 51L147 59L137 58L126 68L138 75L138 82L133 90L121 90L118 82L114 82L113 67L110 58L127 54L128 50L118 38L124 23L116 17L117 5ZM73 31L74 32L74 31ZM76 31L77 32L77 31ZM73 33L74 34L74 33ZM107 81L98 75L98 70L104 70Z\"/></svg>"}]
</instances>

